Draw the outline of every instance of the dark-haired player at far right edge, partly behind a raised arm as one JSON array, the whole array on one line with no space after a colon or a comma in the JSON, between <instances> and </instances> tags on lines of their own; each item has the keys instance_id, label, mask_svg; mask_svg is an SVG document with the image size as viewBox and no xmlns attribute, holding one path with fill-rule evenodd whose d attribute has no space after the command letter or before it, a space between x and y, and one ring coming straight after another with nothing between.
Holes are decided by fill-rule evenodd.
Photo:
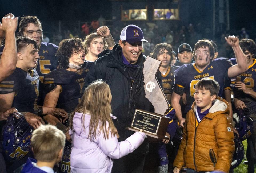
<instances>
[{"instance_id":1,"label":"dark-haired player at far right edge, partly behind a raised arm","mask_svg":"<svg viewBox=\"0 0 256 173\"><path fill-rule=\"evenodd\" d=\"M241 39L239 41L243 53L245 53L248 69L246 72L231 79L230 86L234 92L234 112L238 110L249 110L249 115L253 119L253 131L247 139L246 158L248 160L248 172L254 172L256 159L256 44L251 39ZM233 64L237 64L235 58L230 59Z\"/></svg>"}]
</instances>

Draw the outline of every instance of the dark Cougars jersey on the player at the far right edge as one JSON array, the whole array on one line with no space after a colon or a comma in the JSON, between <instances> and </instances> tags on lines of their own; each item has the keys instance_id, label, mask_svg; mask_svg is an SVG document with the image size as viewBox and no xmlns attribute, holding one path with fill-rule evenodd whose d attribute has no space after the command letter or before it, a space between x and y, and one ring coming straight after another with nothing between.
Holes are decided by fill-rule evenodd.
<instances>
[{"instance_id":1,"label":"dark Cougars jersey on the player at the far right edge","mask_svg":"<svg viewBox=\"0 0 256 173\"><path fill-rule=\"evenodd\" d=\"M237 64L235 58L231 58L230 60L233 64ZM248 67L248 70L246 72L232 78L230 83L230 87L233 89L234 92L234 98L242 100L243 102L245 102L246 106L250 103L254 103L254 105L256 105L256 100L253 97L251 97L249 94L245 94L242 90L238 90L235 87L235 83L239 81L245 83L247 88L252 89L256 92L256 59L253 59L253 64Z\"/></svg>"}]
</instances>

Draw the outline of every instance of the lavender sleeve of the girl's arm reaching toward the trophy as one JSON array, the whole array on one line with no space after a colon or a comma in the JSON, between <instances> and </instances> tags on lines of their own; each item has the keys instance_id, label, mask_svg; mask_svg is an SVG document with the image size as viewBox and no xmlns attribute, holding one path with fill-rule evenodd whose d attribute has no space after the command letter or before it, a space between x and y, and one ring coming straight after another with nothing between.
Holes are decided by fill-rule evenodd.
<instances>
[{"instance_id":1,"label":"lavender sleeve of the girl's arm reaching toward the trophy","mask_svg":"<svg viewBox=\"0 0 256 173\"><path fill-rule=\"evenodd\" d=\"M98 142L99 147L107 156L113 159L119 159L137 149L145 138L145 133L136 132L128 137L125 141L118 142L116 136L111 137L110 134L109 139L104 139L103 135L101 134L96 142Z\"/></svg>"}]
</instances>

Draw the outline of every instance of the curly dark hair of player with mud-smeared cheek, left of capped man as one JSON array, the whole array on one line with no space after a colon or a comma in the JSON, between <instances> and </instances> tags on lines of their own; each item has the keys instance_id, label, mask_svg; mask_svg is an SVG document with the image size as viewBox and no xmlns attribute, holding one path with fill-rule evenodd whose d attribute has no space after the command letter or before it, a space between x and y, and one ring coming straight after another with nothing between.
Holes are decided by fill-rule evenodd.
<instances>
[{"instance_id":1,"label":"curly dark hair of player with mud-smeared cheek, left of capped man","mask_svg":"<svg viewBox=\"0 0 256 173\"><path fill-rule=\"evenodd\" d=\"M87 50L82 39L75 37L62 40L56 52L59 68L69 68L69 58L73 53L79 53L81 50Z\"/></svg>"}]
</instances>

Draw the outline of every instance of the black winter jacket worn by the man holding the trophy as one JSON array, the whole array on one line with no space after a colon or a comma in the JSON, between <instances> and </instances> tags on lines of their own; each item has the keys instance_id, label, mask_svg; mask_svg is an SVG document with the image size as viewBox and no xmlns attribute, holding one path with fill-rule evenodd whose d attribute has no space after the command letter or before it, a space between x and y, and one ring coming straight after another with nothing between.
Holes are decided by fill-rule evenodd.
<instances>
[{"instance_id":1,"label":"black winter jacket worn by the man holding the trophy","mask_svg":"<svg viewBox=\"0 0 256 173\"><path fill-rule=\"evenodd\" d=\"M125 127L131 126L135 109L154 112L153 105L145 98L145 83L142 72L145 60L146 57L141 53L137 65L135 67L128 67L122 61L122 48L116 44L112 52L103 55L95 61L94 66L85 77L82 91L97 79L102 79L109 85L112 94L112 113L118 120L118 122L114 121L114 124L120 135L119 141L125 140L134 133L126 130ZM134 76L133 82L129 74ZM161 81L160 72L157 76L160 76L158 81Z\"/></svg>"}]
</instances>

